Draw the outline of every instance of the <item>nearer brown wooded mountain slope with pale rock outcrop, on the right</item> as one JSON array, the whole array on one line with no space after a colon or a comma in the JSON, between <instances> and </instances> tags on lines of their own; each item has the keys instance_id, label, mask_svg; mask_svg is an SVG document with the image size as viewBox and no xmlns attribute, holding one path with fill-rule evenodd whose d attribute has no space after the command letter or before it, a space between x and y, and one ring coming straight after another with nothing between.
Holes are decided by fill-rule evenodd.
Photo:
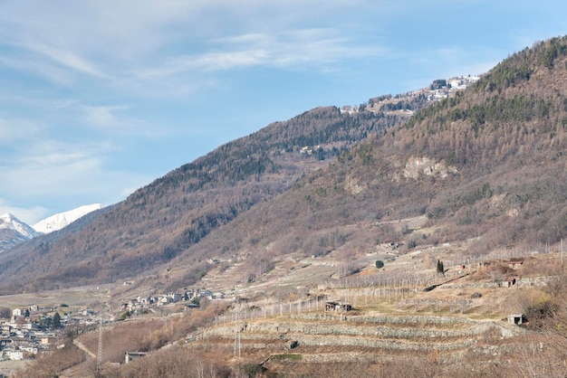
<instances>
[{"instance_id":1,"label":"nearer brown wooded mountain slope with pale rock outcrop, on the right","mask_svg":"<svg viewBox=\"0 0 567 378\"><path fill-rule=\"evenodd\" d=\"M558 38L370 136L174 262L190 266L212 254L234 263L237 253L245 263L234 280L246 282L292 254L332 253L350 269L355 255L384 241L408 250L469 239L474 255L509 245L538 250L567 234L566 132L567 39Z\"/></svg>"}]
</instances>

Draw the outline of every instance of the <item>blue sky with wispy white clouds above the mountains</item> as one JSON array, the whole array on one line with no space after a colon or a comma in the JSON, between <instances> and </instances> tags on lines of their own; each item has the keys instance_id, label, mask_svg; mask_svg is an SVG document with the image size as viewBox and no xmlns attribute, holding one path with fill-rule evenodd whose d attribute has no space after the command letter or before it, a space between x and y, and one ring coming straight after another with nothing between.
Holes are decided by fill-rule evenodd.
<instances>
[{"instance_id":1,"label":"blue sky with wispy white clouds above the mountains","mask_svg":"<svg viewBox=\"0 0 567 378\"><path fill-rule=\"evenodd\" d=\"M562 0L0 0L0 214L110 205L319 106L489 71Z\"/></svg>"}]
</instances>

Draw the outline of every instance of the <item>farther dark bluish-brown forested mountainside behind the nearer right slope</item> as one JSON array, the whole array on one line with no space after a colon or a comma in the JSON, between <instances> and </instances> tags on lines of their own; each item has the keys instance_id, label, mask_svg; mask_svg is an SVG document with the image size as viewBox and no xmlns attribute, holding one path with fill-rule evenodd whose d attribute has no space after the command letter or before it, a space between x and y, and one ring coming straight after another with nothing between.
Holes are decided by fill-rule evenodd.
<instances>
[{"instance_id":1,"label":"farther dark bluish-brown forested mountainside behind the nearer right slope","mask_svg":"<svg viewBox=\"0 0 567 378\"><path fill-rule=\"evenodd\" d=\"M427 104L419 97L408 101L412 109ZM159 269L255 203L407 119L329 107L276 122L160 177L79 230L2 254L3 287L13 292L108 282Z\"/></svg>"}]
</instances>

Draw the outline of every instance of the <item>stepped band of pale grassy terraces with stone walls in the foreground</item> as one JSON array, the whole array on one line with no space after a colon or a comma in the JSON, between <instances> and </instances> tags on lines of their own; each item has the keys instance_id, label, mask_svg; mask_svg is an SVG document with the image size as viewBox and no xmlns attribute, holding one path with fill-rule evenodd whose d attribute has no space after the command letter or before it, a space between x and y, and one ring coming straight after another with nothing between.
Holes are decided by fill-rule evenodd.
<instances>
[{"instance_id":1,"label":"stepped band of pale grassy terraces with stone walls in the foreground","mask_svg":"<svg viewBox=\"0 0 567 378\"><path fill-rule=\"evenodd\" d=\"M188 340L197 347L207 345L227 353L237 345L239 354L264 358L293 349L294 354L320 363L372 359L378 351L437 351L451 361L484 335L513 338L524 333L524 329L501 321L466 317L304 315L213 326L190 335ZM316 354L312 348L316 348ZM353 356L349 350L354 349L362 352ZM338 350L343 353L338 354Z\"/></svg>"}]
</instances>

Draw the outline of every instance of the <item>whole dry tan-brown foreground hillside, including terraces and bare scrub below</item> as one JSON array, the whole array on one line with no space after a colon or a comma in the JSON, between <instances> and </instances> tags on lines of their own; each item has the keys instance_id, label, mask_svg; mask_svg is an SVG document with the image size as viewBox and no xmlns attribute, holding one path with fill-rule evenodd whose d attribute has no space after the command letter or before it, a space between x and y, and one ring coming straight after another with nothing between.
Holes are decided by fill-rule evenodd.
<instances>
[{"instance_id":1,"label":"whole dry tan-brown foreground hillside, including terraces and bare scrub below","mask_svg":"<svg viewBox=\"0 0 567 378\"><path fill-rule=\"evenodd\" d=\"M102 333L69 330L64 348L17 376L561 377L567 281L561 270L542 275L560 258L526 258L511 288L495 274L507 265L492 260L447 269L437 288L424 290L411 282L419 272L403 268L412 260L405 256L388 263L407 272L397 283L313 289L279 304L262 297L213 300L174 317L117 322ZM325 310L328 298L347 294L353 310ZM529 325L511 324L510 314L526 314ZM145 354L124 364L127 352Z\"/></svg>"}]
</instances>

